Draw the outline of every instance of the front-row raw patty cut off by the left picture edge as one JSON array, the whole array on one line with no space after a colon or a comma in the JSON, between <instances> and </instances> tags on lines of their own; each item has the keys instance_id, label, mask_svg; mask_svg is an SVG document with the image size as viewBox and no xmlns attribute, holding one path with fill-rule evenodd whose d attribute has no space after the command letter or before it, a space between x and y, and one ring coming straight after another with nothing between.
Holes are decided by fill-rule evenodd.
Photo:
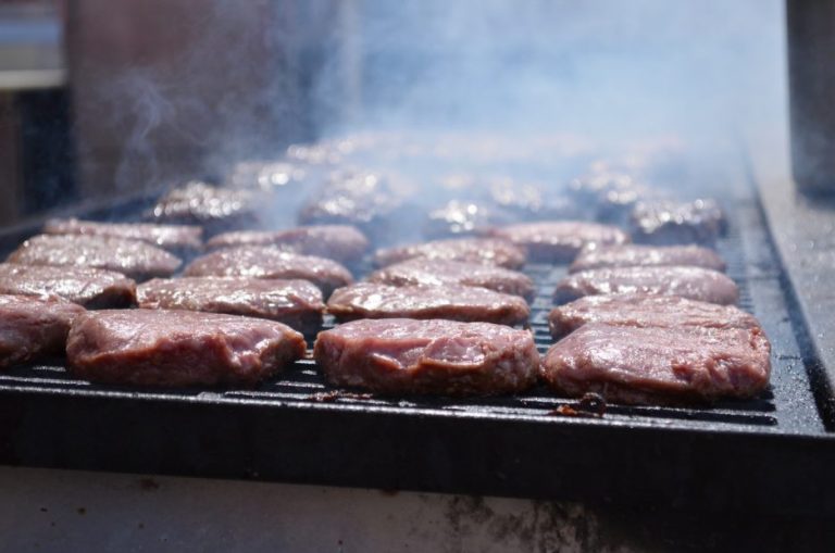
<instances>
[{"instance_id":1,"label":"front-row raw patty cut off by the left picture edge","mask_svg":"<svg viewBox=\"0 0 835 553\"><path fill-rule=\"evenodd\" d=\"M0 294L0 367L61 355L85 309L60 298Z\"/></svg>"}]
</instances>

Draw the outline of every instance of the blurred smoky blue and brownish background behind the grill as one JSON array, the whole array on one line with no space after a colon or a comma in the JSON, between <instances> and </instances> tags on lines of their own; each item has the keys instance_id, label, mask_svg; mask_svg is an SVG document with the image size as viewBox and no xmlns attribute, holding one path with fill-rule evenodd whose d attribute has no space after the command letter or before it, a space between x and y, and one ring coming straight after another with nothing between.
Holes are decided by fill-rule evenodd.
<instances>
[{"instance_id":1,"label":"blurred smoky blue and brownish background behind the grill","mask_svg":"<svg viewBox=\"0 0 835 553\"><path fill-rule=\"evenodd\" d=\"M782 155L784 35L781 0L0 0L0 217L370 129Z\"/></svg>"}]
</instances>

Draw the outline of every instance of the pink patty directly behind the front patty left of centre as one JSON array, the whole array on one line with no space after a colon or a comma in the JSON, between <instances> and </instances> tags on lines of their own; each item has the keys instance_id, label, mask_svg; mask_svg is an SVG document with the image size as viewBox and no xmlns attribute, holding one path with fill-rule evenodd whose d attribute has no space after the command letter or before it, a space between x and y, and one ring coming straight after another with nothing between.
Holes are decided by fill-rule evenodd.
<instances>
[{"instance_id":1,"label":"pink patty directly behind the front patty left of centre","mask_svg":"<svg viewBox=\"0 0 835 553\"><path fill-rule=\"evenodd\" d=\"M269 318L311 334L322 326L322 291L307 280L183 277L137 288L140 307L188 310Z\"/></svg>"}]
</instances>

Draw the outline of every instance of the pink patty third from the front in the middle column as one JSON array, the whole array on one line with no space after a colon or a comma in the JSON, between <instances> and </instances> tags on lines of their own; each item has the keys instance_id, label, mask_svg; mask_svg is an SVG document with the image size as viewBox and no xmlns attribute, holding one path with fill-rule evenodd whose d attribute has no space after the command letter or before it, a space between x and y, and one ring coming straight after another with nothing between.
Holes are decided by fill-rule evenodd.
<instances>
[{"instance_id":1,"label":"pink patty third from the front in the middle column","mask_svg":"<svg viewBox=\"0 0 835 553\"><path fill-rule=\"evenodd\" d=\"M497 292L534 298L534 281L527 275L502 267L461 261L418 257L377 269L369 275L370 282L394 286L464 285L489 288Z\"/></svg>"}]
</instances>

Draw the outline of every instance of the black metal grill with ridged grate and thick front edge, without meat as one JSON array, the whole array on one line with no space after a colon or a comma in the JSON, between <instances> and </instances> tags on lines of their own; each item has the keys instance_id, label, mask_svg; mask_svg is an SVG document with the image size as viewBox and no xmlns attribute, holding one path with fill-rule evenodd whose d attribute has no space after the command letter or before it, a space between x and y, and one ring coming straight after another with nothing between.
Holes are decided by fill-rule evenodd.
<instances>
[{"instance_id":1,"label":"black metal grill with ridged grate and thick front edge, without meat","mask_svg":"<svg viewBox=\"0 0 835 553\"><path fill-rule=\"evenodd\" d=\"M815 360L801 354L805 329L789 315L794 297L755 187L740 183L726 200L731 231L718 249L740 287L740 306L773 345L771 388L755 400L609 405L599 415L545 388L474 400L338 391L311 360L247 390L102 387L53 364L0 374L0 462L835 514L830 389ZM29 230L9 232L3 243ZM565 267L526 271L538 284L531 326L545 353L551 293Z\"/></svg>"}]
</instances>

